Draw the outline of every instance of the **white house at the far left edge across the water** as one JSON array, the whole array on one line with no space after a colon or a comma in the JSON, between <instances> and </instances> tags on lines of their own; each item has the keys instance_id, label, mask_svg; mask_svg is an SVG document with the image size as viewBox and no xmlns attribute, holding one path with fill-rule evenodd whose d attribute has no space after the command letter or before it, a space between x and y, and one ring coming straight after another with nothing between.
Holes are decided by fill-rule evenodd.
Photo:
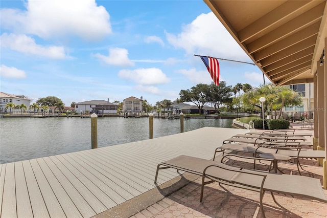
<instances>
[{"instance_id":1,"label":"white house at the far left edge across the water","mask_svg":"<svg viewBox=\"0 0 327 218\"><path fill-rule=\"evenodd\" d=\"M24 95L11 95L4 92L0 92L0 113L9 112L9 108L6 109L8 103L15 105L25 104L29 108L32 99L25 97ZM12 109L11 112L20 112L20 109Z\"/></svg>"}]
</instances>

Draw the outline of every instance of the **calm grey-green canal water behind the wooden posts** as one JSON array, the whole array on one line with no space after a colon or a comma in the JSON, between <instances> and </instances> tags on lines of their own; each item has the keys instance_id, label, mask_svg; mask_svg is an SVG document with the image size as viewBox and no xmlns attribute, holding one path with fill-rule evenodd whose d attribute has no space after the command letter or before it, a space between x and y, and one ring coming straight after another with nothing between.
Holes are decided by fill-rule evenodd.
<instances>
[{"instance_id":1,"label":"calm grey-green canal water behind the wooden posts","mask_svg":"<svg viewBox=\"0 0 327 218\"><path fill-rule=\"evenodd\" d=\"M232 119L184 120L184 132L231 126ZM180 133L180 120L154 119L154 138ZM91 119L1 118L0 164L91 148ZM98 147L149 139L148 118L98 118Z\"/></svg>"}]
</instances>

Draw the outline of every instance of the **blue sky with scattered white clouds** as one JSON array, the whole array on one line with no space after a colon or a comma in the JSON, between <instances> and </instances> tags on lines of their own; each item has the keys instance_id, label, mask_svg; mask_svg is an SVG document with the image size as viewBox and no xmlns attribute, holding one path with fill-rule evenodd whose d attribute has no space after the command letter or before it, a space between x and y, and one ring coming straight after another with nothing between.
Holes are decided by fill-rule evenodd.
<instances>
[{"instance_id":1,"label":"blue sky with scattered white clouds","mask_svg":"<svg viewBox=\"0 0 327 218\"><path fill-rule=\"evenodd\" d=\"M0 90L32 102L143 96L155 105L212 82L194 54L252 62L201 0L1 0L0 14ZM227 85L263 83L256 66L219 64Z\"/></svg>"}]
</instances>

